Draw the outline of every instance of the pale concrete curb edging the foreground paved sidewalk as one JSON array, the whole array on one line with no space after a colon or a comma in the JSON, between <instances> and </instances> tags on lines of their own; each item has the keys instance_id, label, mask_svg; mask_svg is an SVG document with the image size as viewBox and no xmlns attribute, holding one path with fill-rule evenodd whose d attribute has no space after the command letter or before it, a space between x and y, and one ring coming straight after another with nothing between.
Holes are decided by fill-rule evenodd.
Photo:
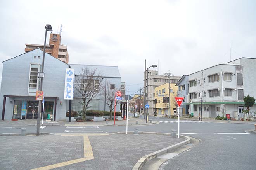
<instances>
[{"instance_id":1,"label":"pale concrete curb edging the foreground paved sidewalk","mask_svg":"<svg viewBox=\"0 0 256 170\"><path fill-rule=\"evenodd\" d=\"M128 132L128 134L133 134L134 132ZM118 133L113 133L113 134L126 134L126 132L118 132ZM166 135L166 136L171 136L170 133L157 133L157 132L139 132L139 134L156 134L156 135ZM157 156L163 155L164 153L173 151L183 145L187 145L190 143L191 139L189 136L183 136L180 135L181 138L186 139L185 141L182 141L180 143L176 143L175 145L168 146L167 148L163 148L161 150L155 151L153 153L150 153L148 155L142 156L138 160L137 163L133 166L132 170L140 170L149 160L156 158Z\"/></svg>"}]
</instances>

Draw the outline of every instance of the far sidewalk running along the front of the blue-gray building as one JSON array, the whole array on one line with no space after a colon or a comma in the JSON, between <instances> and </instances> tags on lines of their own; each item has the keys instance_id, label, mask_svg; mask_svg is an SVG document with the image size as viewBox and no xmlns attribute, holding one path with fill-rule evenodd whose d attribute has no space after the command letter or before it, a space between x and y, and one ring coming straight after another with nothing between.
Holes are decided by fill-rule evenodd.
<instances>
[{"instance_id":1,"label":"far sidewalk running along the front of the blue-gray building","mask_svg":"<svg viewBox=\"0 0 256 170\"><path fill-rule=\"evenodd\" d=\"M138 121L138 124L136 124ZM156 124L157 121L152 121L150 123L146 123L143 119L138 119L134 117L128 117L128 125L148 125L148 124ZM18 121L0 121L0 126L36 126L36 120L18 120ZM42 125L42 121L40 121L40 125ZM114 126L114 121L108 121L106 125L106 121L85 121L85 122L62 122L62 121L43 121L43 126ZM126 120L118 120L115 121L116 126L125 126Z\"/></svg>"}]
</instances>

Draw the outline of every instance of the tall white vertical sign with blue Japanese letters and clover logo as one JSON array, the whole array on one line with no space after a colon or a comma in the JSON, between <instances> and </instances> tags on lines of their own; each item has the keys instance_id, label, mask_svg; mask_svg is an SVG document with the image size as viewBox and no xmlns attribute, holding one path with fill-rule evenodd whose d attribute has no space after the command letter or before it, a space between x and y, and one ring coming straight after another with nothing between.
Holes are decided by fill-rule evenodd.
<instances>
[{"instance_id":1,"label":"tall white vertical sign with blue Japanese letters and clover logo","mask_svg":"<svg viewBox=\"0 0 256 170\"><path fill-rule=\"evenodd\" d=\"M74 69L66 68L64 100L73 100Z\"/></svg>"}]
</instances>

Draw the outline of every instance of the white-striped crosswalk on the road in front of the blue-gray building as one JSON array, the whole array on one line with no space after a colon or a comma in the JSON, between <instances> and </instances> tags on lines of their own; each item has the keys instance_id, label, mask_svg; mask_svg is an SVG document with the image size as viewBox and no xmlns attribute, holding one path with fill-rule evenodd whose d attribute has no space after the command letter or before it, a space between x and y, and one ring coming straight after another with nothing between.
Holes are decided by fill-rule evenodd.
<instances>
[{"instance_id":1,"label":"white-striped crosswalk on the road in front of the blue-gray building","mask_svg":"<svg viewBox=\"0 0 256 170\"><path fill-rule=\"evenodd\" d=\"M67 126L65 133L103 133L99 126Z\"/></svg>"}]
</instances>

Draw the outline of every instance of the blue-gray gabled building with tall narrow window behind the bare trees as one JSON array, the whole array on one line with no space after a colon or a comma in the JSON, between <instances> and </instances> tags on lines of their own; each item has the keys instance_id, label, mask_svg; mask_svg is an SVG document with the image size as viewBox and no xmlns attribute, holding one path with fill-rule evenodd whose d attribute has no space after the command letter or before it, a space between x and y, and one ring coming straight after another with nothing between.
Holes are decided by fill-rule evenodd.
<instances>
[{"instance_id":1,"label":"blue-gray gabled building with tall narrow window behind the bare trees","mask_svg":"<svg viewBox=\"0 0 256 170\"><path fill-rule=\"evenodd\" d=\"M40 80L37 73L41 70L43 51L39 48L3 61L2 83L0 91L0 110L2 120L37 119ZM65 71L74 68L76 76L83 67L97 68L102 73L104 88L107 82L118 89L121 87L121 76L117 66L68 65L45 53L43 92L45 99L44 119L53 121L66 120L69 100L64 100ZM91 102L90 109L106 110L105 95L97 95ZM72 109L80 111L79 99L74 98ZM117 111L119 111L119 106Z\"/></svg>"}]
</instances>

